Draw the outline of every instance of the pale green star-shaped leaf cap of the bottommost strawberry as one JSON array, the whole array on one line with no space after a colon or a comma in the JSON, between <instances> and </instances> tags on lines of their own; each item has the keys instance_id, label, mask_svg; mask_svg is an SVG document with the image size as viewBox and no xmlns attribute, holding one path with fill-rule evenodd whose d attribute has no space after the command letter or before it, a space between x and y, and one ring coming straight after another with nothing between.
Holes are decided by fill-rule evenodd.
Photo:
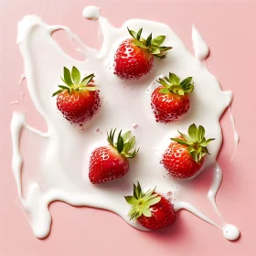
<instances>
[{"instance_id":1,"label":"pale green star-shaped leaf cap of the bottommost strawberry","mask_svg":"<svg viewBox=\"0 0 256 256\"><path fill-rule=\"evenodd\" d=\"M130 220L138 219L142 215L152 217L151 207L161 200L161 196L155 193L155 189L148 190L144 193L138 181L137 186L133 184L133 196L124 198L128 204L133 206L129 211Z\"/></svg>"}]
</instances>

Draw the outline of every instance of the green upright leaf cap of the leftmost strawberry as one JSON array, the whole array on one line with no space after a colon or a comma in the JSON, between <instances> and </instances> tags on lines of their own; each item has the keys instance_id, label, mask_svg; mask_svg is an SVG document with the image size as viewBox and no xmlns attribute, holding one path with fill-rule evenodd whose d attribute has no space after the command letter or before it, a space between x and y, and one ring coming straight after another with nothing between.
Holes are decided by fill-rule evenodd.
<instances>
[{"instance_id":1,"label":"green upright leaf cap of the leftmost strawberry","mask_svg":"<svg viewBox=\"0 0 256 256\"><path fill-rule=\"evenodd\" d=\"M52 94L52 97L56 96L61 91L69 91L69 93L71 93L72 91L96 91L98 90L97 86L88 86L88 84L94 77L95 76L92 73L89 76L86 76L85 78L80 80L79 69L73 66L70 72L69 69L64 67L64 76L63 78L60 77L60 79L65 83L65 85L58 85L60 89L59 91L55 91Z\"/></svg>"}]
</instances>

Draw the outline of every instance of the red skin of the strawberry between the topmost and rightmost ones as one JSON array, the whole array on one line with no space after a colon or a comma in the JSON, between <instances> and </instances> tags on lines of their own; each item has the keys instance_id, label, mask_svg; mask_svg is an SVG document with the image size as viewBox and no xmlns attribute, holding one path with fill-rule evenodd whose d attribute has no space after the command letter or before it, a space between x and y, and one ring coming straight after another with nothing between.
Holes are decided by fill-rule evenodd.
<instances>
[{"instance_id":1,"label":"red skin of the strawberry between the topmost and rightmost ones","mask_svg":"<svg viewBox=\"0 0 256 256\"><path fill-rule=\"evenodd\" d=\"M151 107L157 123L172 123L189 111L189 95L159 92L163 88L163 86L159 86L153 91L151 95Z\"/></svg>"}]
</instances>

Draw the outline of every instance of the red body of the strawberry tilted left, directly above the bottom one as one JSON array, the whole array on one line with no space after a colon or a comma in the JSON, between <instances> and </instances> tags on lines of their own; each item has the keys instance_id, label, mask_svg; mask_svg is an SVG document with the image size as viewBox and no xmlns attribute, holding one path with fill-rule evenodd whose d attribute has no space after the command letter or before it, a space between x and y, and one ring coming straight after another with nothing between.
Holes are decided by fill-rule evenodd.
<instances>
[{"instance_id":1,"label":"red body of the strawberry tilted left, directly above the bottom one","mask_svg":"<svg viewBox=\"0 0 256 256\"><path fill-rule=\"evenodd\" d=\"M100 184L124 176L129 170L129 162L112 146L96 148L90 159L89 178L91 183Z\"/></svg>"}]
</instances>

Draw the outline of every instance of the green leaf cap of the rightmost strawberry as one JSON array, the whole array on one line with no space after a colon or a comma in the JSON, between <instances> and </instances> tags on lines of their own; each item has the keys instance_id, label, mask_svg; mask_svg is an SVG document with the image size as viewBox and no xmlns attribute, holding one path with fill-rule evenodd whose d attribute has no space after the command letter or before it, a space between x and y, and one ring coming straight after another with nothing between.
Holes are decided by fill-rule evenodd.
<instances>
[{"instance_id":1,"label":"green leaf cap of the rightmost strawberry","mask_svg":"<svg viewBox=\"0 0 256 256\"><path fill-rule=\"evenodd\" d=\"M197 162L200 163L201 159L205 155L210 155L208 153L207 145L215 139L206 139L205 138L205 128L202 125L197 125L195 123L191 124L188 127L188 135L185 133L180 133L177 131L181 137L180 138L171 138L172 141L177 144L187 145L187 151L189 155Z\"/></svg>"}]
</instances>

